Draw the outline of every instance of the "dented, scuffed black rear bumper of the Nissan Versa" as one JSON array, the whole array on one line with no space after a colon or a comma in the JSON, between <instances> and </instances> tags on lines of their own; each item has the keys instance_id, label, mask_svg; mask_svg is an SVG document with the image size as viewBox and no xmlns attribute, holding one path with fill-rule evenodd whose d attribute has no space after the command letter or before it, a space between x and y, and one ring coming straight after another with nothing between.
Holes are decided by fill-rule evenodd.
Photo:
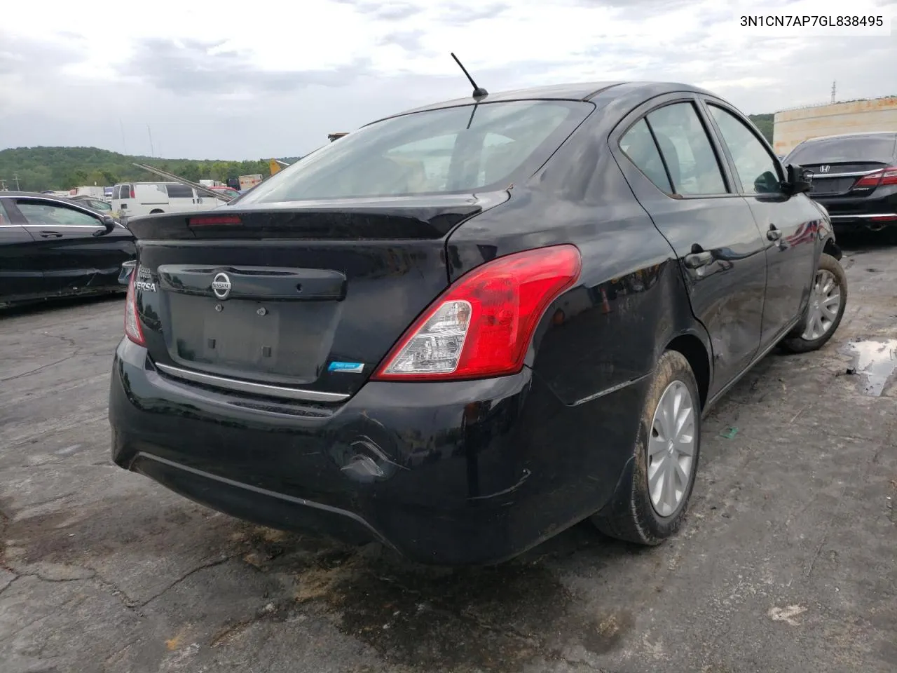
<instances>
[{"instance_id":1,"label":"dented, scuffed black rear bumper of the Nissan Versa","mask_svg":"<svg viewBox=\"0 0 897 673\"><path fill-rule=\"evenodd\" d=\"M250 408L166 378L125 339L109 392L112 458L241 519L379 540L423 563L491 564L611 500L644 385L564 406L524 369L369 382L339 406Z\"/></svg>"}]
</instances>

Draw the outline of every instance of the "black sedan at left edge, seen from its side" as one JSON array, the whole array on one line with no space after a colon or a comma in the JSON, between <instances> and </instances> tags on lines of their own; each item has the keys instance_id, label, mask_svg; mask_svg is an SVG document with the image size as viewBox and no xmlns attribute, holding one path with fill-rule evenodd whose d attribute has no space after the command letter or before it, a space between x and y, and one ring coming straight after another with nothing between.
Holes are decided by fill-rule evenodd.
<instances>
[{"instance_id":1,"label":"black sedan at left edge, seen from its side","mask_svg":"<svg viewBox=\"0 0 897 673\"><path fill-rule=\"evenodd\" d=\"M134 237L110 214L68 198L0 192L0 306L121 292Z\"/></svg>"}]
</instances>

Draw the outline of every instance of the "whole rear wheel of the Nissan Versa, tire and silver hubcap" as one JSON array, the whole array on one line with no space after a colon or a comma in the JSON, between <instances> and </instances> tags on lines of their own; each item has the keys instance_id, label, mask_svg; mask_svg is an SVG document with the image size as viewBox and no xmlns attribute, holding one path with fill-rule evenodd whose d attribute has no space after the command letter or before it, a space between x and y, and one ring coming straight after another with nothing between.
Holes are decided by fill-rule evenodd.
<instances>
[{"instance_id":1,"label":"whole rear wheel of the Nissan Versa, tire and silver hubcap","mask_svg":"<svg viewBox=\"0 0 897 673\"><path fill-rule=\"evenodd\" d=\"M685 356L658 361L633 448L631 479L592 520L612 538L658 545L682 525L701 450L701 398Z\"/></svg>"}]
</instances>

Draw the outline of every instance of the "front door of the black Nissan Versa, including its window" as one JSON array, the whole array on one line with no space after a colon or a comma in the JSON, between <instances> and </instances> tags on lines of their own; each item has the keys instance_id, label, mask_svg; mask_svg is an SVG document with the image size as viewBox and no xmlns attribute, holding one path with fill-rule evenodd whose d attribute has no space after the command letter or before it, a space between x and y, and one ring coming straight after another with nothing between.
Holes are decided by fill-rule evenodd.
<instances>
[{"instance_id":1,"label":"front door of the black Nissan Versa, including its window","mask_svg":"<svg viewBox=\"0 0 897 673\"><path fill-rule=\"evenodd\" d=\"M766 247L766 302L761 347L794 325L810 296L821 214L805 194L784 194L781 165L735 109L704 99L738 191L751 206Z\"/></svg>"}]
</instances>

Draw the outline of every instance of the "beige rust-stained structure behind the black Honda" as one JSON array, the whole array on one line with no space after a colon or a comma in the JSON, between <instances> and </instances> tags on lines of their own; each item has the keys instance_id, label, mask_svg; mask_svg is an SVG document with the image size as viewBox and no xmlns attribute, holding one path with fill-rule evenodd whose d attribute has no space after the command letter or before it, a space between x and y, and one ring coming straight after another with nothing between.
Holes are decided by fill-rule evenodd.
<instances>
[{"instance_id":1,"label":"beige rust-stained structure behind the black Honda","mask_svg":"<svg viewBox=\"0 0 897 673\"><path fill-rule=\"evenodd\" d=\"M772 144L784 156L809 138L870 131L897 131L897 96L776 112Z\"/></svg>"}]
</instances>

